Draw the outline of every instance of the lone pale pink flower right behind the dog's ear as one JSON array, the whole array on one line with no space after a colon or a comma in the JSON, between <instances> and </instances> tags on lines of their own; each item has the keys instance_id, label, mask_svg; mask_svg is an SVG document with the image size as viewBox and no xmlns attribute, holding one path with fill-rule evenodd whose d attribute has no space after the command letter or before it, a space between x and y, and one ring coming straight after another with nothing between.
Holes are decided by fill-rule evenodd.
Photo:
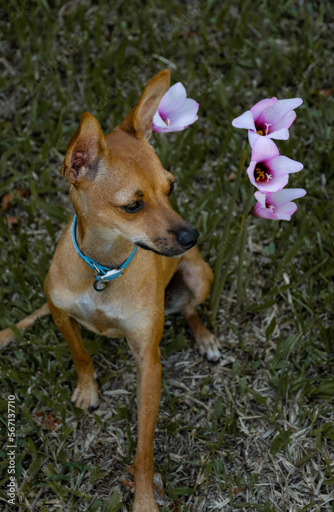
<instances>
[{"instance_id":1,"label":"lone pale pink flower right behind the dog's ear","mask_svg":"<svg viewBox=\"0 0 334 512\"><path fill-rule=\"evenodd\" d=\"M153 132L180 132L198 119L198 103L186 97L181 82L172 86L161 98L152 121Z\"/></svg>"}]
</instances>

